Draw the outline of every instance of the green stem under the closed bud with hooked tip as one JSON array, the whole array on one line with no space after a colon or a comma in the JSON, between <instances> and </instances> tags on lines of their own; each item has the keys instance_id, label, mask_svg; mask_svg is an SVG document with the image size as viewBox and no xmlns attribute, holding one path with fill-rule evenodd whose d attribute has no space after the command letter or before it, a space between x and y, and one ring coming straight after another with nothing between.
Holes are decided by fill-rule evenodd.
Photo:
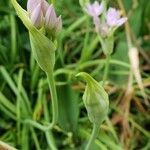
<instances>
[{"instance_id":1,"label":"green stem under the closed bud with hooked tip","mask_svg":"<svg viewBox=\"0 0 150 150\"><path fill-rule=\"evenodd\" d=\"M89 139L89 142L88 142L88 144L87 144L85 150L92 150L92 144L93 144L93 142L95 141L95 139L96 139L96 137L97 137L97 135L98 135L98 132L99 132L99 125L94 124L91 137L90 137L90 139Z\"/></svg>"}]
</instances>

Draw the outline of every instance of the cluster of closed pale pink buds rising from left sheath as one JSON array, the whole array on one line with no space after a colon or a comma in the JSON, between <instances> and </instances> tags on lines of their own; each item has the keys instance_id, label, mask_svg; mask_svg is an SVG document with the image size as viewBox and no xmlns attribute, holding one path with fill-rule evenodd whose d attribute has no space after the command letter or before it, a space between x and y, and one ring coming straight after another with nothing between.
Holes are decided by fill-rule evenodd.
<instances>
[{"instance_id":1,"label":"cluster of closed pale pink buds rising from left sheath","mask_svg":"<svg viewBox=\"0 0 150 150\"><path fill-rule=\"evenodd\" d=\"M62 28L61 16L57 17L53 5L46 0L28 0L27 11L33 25L57 35Z\"/></svg>"}]
</instances>

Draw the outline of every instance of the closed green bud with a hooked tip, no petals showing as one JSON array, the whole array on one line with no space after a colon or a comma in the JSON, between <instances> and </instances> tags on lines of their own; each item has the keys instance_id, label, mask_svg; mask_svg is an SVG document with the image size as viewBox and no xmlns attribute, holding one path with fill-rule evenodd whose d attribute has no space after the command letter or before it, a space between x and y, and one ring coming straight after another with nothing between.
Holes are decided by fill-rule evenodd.
<instances>
[{"instance_id":1,"label":"closed green bud with a hooked tip, no petals showing","mask_svg":"<svg viewBox=\"0 0 150 150\"><path fill-rule=\"evenodd\" d=\"M81 72L77 74L77 76L87 82L83 95L83 101L90 121L95 124L101 124L108 114L108 94L104 88L89 74Z\"/></svg>"}]
</instances>

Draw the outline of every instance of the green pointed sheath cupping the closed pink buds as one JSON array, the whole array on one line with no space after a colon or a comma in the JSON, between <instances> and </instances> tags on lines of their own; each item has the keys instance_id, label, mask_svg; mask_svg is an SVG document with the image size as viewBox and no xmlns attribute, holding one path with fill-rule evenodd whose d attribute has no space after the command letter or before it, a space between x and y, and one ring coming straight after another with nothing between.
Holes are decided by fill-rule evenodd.
<instances>
[{"instance_id":1,"label":"green pointed sheath cupping the closed pink buds","mask_svg":"<svg viewBox=\"0 0 150 150\"><path fill-rule=\"evenodd\" d=\"M56 45L44 35L42 29L38 30L33 25L28 12L25 11L16 0L11 1L19 18L29 31L31 48L36 61L42 70L49 72L53 69L55 64Z\"/></svg>"}]
</instances>

